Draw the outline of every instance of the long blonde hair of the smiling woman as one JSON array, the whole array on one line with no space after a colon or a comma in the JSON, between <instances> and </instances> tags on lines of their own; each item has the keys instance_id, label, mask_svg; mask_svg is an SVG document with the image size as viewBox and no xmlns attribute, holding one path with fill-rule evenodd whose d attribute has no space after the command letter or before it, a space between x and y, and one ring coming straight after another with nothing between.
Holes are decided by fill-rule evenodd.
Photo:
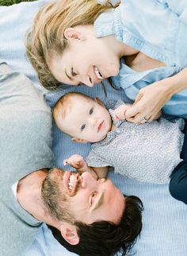
<instances>
[{"instance_id":1,"label":"long blonde hair of the smiling woman","mask_svg":"<svg viewBox=\"0 0 187 256\"><path fill-rule=\"evenodd\" d=\"M34 24L28 33L26 53L35 68L40 83L48 90L59 87L48 68L52 54L61 56L67 47L64 30L76 25L91 25L105 10L114 8L96 0L59 0L50 2L36 14Z\"/></svg>"}]
</instances>

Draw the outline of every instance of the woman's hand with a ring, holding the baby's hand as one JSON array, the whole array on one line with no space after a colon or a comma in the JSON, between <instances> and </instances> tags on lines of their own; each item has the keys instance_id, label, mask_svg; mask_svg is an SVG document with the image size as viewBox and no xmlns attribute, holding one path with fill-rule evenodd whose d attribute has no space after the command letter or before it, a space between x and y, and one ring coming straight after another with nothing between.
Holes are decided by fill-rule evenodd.
<instances>
[{"instance_id":1,"label":"woman's hand with a ring, holding the baby's hand","mask_svg":"<svg viewBox=\"0 0 187 256\"><path fill-rule=\"evenodd\" d=\"M144 123L160 116L160 110L172 96L169 80L161 80L143 87L135 99L135 103L125 112L129 122Z\"/></svg>"}]
</instances>

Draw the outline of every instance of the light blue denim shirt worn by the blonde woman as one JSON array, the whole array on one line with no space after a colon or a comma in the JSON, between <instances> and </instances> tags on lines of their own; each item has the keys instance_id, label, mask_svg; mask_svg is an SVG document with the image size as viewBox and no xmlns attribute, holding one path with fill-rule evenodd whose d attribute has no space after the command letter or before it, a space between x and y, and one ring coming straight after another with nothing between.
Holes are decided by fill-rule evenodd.
<instances>
[{"instance_id":1,"label":"light blue denim shirt worn by the blonde woman","mask_svg":"<svg viewBox=\"0 0 187 256\"><path fill-rule=\"evenodd\" d=\"M165 67L136 72L120 60L119 76L113 77L129 99L135 100L142 87L174 76L187 67L187 1L122 0L94 22L96 37L114 35ZM187 83L187 82L186 82ZM162 108L166 114L187 118L187 89L178 92Z\"/></svg>"}]
</instances>

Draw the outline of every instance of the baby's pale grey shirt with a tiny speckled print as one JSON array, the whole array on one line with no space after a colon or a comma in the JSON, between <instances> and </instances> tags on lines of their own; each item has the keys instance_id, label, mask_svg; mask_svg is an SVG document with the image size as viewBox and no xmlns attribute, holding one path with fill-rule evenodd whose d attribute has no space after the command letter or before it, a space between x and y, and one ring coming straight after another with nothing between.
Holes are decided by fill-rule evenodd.
<instances>
[{"instance_id":1,"label":"baby's pale grey shirt with a tiny speckled print","mask_svg":"<svg viewBox=\"0 0 187 256\"><path fill-rule=\"evenodd\" d=\"M113 111L110 113L113 116ZM170 173L181 161L184 120L159 118L139 125L119 121L115 126L104 140L92 144L87 164L113 166L116 173L139 181L168 183Z\"/></svg>"}]
</instances>

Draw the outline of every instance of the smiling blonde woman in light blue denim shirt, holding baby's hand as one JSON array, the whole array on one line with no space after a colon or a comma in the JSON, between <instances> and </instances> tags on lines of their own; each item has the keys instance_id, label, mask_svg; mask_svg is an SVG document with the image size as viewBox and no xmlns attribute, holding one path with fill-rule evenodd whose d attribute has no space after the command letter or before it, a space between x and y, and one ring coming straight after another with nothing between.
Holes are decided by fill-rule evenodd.
<instances>
[{"instance_id":1,"label":"smiling blonde woman in light blue denim shirt, holding baby's hand","mask_svg":"<svg viewBox=\"0 0 187 256\"><path fill-rule=\"evenodd\" d=\"M126 0L113 7L94 0L50 3L37 14L27 53L40 81L93 86L110 76L134 106L132 122L148 122L162 108L187 118L187 3Z\"/></svg>"}]
</instances>

